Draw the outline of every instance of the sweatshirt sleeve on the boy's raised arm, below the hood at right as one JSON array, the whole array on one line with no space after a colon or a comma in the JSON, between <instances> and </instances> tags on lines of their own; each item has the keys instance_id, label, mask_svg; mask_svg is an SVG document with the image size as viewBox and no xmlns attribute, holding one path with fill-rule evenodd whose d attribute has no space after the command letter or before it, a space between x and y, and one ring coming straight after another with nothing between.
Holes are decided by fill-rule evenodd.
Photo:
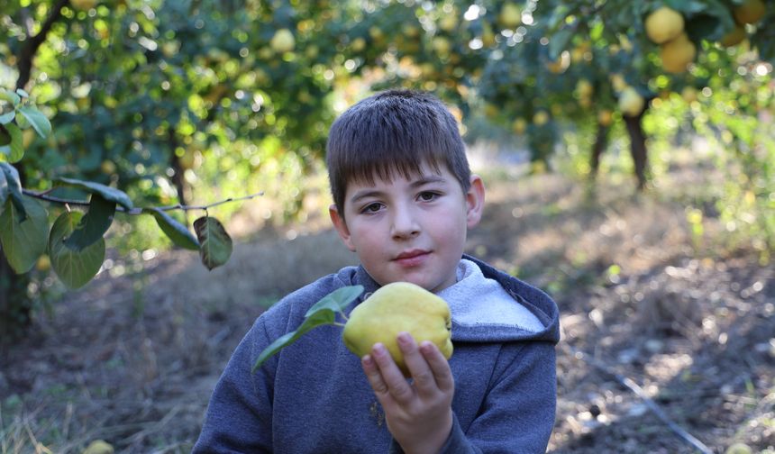
<instances>
[{"instance_id":1,"label":"sweatshirt sleeve on the boy's raised arm, below the hood at right","mask_svg":"<svg viewBox=\"0 0 775 454\"><path fill-rule=\"evenodd\" d=\"M554 343L507 344L479 414L467 430L455 416L441 452L546 452L556 404ZM390 452L403 451L394 440Z\"/></svg>"}]
</instances>

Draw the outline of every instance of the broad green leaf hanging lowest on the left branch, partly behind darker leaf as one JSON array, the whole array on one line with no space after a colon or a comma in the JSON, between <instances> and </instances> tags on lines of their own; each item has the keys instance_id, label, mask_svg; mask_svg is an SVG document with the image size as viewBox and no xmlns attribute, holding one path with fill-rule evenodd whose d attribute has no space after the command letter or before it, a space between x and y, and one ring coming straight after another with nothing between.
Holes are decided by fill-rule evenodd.
<instances>
[{"instance_id":1,"label":"broad green leaf hanging lowest on the left branch, partly behind darker leaf","mask_svg":"<svg viewBox=\"0 0 775 454\"><path fill-rule=\"evenodd\" d=\"M61 213L49 236L51 267L69 288L84 286L96 276L105 260L105 239L102 237L80 251L65 246L65 238L75 230L82 216L80 212Z\"/></svg>"}]
</instances>

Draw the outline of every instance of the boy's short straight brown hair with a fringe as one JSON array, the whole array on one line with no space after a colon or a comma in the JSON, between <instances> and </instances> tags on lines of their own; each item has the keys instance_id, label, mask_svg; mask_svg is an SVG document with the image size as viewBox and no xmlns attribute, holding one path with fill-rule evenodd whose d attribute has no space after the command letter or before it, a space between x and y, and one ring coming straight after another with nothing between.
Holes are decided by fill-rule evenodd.
<instances>
[{"instance_id":1,"label":"boy's short straight brown hair with a fringe","mask_svg":"<svg viewBox=\"0 0 775 454\"><path fill-rule=\"evenodd\" d=\"M447 166L464 193L470 187L455 117L438 98L418 91L387 90L352 105L331 126L325 160L342 216L348 182L389 181L394 172L408 178L424 163L436 171Z\"/></svg>"}]
</instances>

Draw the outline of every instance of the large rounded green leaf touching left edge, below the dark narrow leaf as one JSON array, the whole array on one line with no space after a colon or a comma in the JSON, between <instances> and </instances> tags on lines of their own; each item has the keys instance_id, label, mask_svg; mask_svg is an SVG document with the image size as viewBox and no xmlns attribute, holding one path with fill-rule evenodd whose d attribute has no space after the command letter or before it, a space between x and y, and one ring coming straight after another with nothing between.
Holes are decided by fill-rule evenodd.
<instances>
[{"instance_id":1,"label":"large rounded green leaf touching left edge, below the dark narrow leaf","mask_svg":"<svg viewBox=\"0 0 775 454\"><path fill-rule=\"evenodd\" d=\"M6 201L0 214L0 243L5 258L18 274L26 273L46 250L49 234L48 214L43 206L31 197L22 200L25 216L12 201Z\"/></svg>"}]
</instances>

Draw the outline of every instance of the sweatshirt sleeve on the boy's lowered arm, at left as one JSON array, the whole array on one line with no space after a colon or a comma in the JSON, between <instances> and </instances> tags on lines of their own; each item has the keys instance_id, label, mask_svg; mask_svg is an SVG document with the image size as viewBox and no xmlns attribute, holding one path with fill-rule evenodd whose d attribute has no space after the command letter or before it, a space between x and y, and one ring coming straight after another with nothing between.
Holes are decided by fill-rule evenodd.
<instances>
[{"instance_id":1,"label":"sweatshirt sleeve on the boy's lowered arm, at left","mask_svg":"<svg viewBox=\"0 0 775 454\"><path fill-rule=\"evenodd\" d=\"M276 312L276 311L269 311ZM264 313L242 339L215 385L192 453L272 451L272 383L277 357L255 373L253 361L269 345Z\"/></svg>"}]
</instances>

